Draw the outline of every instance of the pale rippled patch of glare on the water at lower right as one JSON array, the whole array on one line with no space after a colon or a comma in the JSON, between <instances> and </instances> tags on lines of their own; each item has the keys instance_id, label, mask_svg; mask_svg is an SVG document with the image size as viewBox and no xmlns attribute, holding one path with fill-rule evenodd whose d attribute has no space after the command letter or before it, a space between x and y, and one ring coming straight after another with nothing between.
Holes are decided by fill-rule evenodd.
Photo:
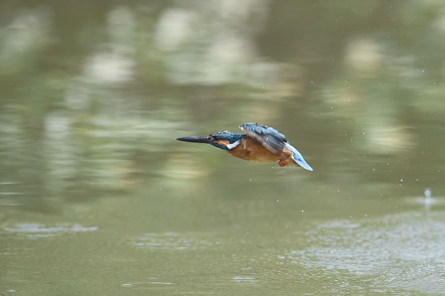
<instances>
[{"instance_id":1,"label":"pale rippled patch of glare on the water at lower right","mask_svg":"<svg viewBox=\"0 0 445 296\"><path fill-rule=\"evenodd\" d=\"M308 269L346 270L399 289L441 293L445 284L445 212L408 212L359 223L332 221L305 233L312 246L286 258ZM433 272L433 270L435 270Z\"/></svg>"}]
</instances>

